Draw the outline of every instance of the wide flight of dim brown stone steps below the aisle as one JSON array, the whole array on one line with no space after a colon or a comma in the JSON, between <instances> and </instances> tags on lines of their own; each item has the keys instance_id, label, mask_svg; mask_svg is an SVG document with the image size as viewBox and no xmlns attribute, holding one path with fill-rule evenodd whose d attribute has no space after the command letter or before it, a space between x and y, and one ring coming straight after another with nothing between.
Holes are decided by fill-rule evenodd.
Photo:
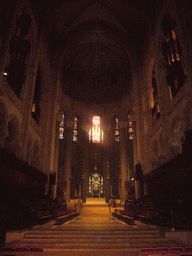
<instances>
[{"instance_id":1,"label":"wide flight of dim brown stone steps below the aisle","mask_svg":"<svg viewBox=\"0 0 192 256\"><path fill-rule=\"evenodd\" d=\"M29 231L17 247L43 249L138 249L143 247L174 246L159 231Z\"/></svg>"}]
</instances>

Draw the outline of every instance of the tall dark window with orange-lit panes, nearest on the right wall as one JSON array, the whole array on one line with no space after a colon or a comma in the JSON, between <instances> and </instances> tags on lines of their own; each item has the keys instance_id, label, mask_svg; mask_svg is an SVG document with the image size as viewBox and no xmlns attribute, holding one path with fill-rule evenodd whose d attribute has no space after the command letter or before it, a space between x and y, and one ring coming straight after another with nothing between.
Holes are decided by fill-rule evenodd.
<instances>
[{"instance_id":1,"label":"tall dark window with orange-lit panes, nearest on the right wall","mask_svg":"<svg viewBox=\"0 0 192 256\"><path fill-rule=\"evenodd\" d=\"M162 28L165 36L162 53L167 64L167 83L171 89L171 98L173 98L186 80L181 64L182 49L176 33L176 21L170 17L170 14L164 16Z\"/></svg>"}]
</instances>

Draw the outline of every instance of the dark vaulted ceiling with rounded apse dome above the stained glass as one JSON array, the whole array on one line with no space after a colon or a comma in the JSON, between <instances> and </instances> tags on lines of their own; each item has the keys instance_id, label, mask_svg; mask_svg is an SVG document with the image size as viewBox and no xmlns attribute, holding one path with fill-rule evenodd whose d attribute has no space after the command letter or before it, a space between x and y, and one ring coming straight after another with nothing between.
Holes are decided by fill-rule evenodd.
<instances>
[{"instance_id":1,"label":"dark vaulted ceiling with rounded apse dome above the stained glass","mask_svg":"<svg viewBox=\"0 0 192 256\"><path fill-rule=\"evenodd\" d=\"M41 2L41 1L39 1ZM116 101L131 91L134 64L142 57L155 0L47 0L62 88L76 101Z\"/></svg>"}]
</instances>

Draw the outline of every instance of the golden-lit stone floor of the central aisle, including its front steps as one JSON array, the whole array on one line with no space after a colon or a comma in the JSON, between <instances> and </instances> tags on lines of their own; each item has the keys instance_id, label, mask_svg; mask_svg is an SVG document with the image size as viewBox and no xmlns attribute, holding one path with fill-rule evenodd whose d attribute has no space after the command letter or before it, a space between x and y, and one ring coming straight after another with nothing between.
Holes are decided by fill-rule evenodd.
<instances>
[{"instance_id":1,"label":"golden-lit stone floor of the central aisle, including its front steps","mask_svg":"<svg viewBox=\"0 0 192 256\"><path fill-rule=\"evenodd\" d=\"M50 221L30 230L9 233L6 243L13 247L43 248L44 252L35 253L36 256L140 256L143 247L178 246L156 226L139 221L128 225L116 219L108 205L99 200L88 200L81 214L68 222L58 225Z\"/></svg>"}]
</instances>

